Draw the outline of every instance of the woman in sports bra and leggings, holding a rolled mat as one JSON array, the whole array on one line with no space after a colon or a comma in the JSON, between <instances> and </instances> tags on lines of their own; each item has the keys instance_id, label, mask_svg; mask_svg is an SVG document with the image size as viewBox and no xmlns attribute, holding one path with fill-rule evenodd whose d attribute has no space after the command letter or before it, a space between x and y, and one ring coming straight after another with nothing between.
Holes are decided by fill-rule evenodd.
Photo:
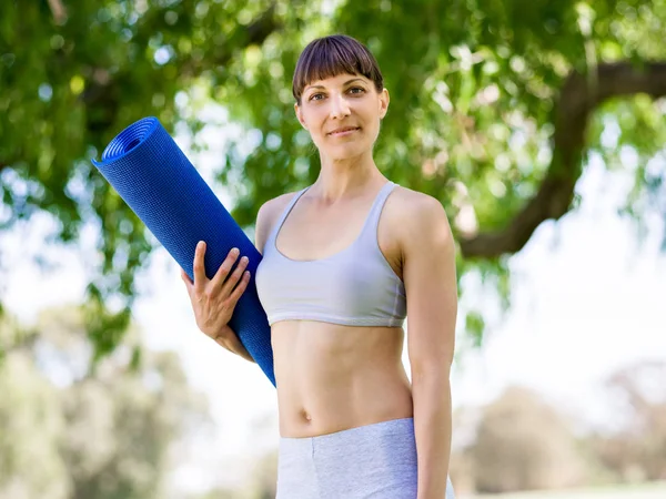
<instances>
[{"instance_id":1,"label":"woman in sports bra and leggings, holding a rolled mat","mask_svg":"<svg viewBox=\"0 0 666 499\"><path fill-rule=\"evenodd\" d=\"M278 385L278 498L443 499L447 485L452 497L457 293L445 212L374 163L389 92L364 45L345 35L311 42L293 93L321 172L260 208L255 241ZM200 246L194 282L182 273L196 324L252 360L226 325L249 282L246 258L230 276L232 251L209 281Z\"/></svg>"}]
</instances>

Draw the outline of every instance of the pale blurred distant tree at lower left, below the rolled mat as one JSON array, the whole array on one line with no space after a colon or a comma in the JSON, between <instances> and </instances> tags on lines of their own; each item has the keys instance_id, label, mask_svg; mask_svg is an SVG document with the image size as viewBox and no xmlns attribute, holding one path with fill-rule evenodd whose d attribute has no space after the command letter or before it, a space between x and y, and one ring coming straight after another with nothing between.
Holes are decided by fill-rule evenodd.
<instances>
[{"instance_id":1,"label":"pale blurred distant tree at lower left, below the rolled mat","mask_svg":"<svg viewBox=\"0 0 666 499\"><path fill-rule=\"evenodd\" d=\"M77 308L22 334L0 325L0 498L165 497L171 452L211 428L176 355L125 342L93 365Z\"/></svg>"}]
</instances>

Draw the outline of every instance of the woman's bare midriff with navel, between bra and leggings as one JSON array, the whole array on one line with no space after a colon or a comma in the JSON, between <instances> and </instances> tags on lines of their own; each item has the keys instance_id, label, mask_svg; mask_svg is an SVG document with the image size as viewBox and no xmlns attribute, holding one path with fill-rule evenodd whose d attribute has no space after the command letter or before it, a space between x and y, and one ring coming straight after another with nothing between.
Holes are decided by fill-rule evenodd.
<instances>
[{"instance_id":1,"label":"woman's bare midriff with navel, between bra and leggings","mask_svg":"<svg viewBox=\"0 0 666 499\"><path fill-rule=\"evenodd\" d=\"M273 326L272 342L281 436L412 417L402 328L283 322Z\"/></svg>"}]
</instances>

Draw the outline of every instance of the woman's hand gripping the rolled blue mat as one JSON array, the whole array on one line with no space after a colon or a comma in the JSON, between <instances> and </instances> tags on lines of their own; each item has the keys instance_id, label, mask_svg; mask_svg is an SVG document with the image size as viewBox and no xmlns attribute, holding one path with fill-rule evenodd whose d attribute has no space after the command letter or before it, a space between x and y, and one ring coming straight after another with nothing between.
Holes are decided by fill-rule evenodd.
<instances>
[{"instance_id":1,"label":"woman's hand gripping the rolled blue mat","mask_svg":"<svg viewBox=\"0 0 666 499\"><path fill-rule=\"evenodd\" d=\"M194 282L182 268L181 277L188 287L199 329L220 345L229 348L238 343L238 338L232 337L235 334L226 325L231 320L239 298L250 282L250 272L245 271L248 257L243 256L230 275L231 268L239 257L239 249L231 249L213 278L209 279L203 264L204 255L205 243L201 241L194 253Z\"/></svg>"}]
</instances>

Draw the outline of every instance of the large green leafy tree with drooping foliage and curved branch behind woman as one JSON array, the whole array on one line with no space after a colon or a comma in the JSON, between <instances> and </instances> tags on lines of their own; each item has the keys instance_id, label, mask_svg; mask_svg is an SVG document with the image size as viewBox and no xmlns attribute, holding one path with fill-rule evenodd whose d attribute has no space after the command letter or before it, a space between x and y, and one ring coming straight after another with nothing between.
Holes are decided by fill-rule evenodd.
<instances>
[{"instance_id":1,"label":"large green leafy tree with drooping foliage and curved branch behind woman","mask_svg":"<svg viewBox=\"0 0 666 499\"><path fill-rule=\"evenodd\" d=\"M250 226L263 201L316 176L290 77L309 40L345 32L370 45L393 95L377 163L443 203L458 275L481 272L507 304L506 257L575 208L589 155L626 169L620 154L635 152L626 213L640 223L650 205L666 211L655 160L666 139L665 28L665 0L3 2L0 222L46 211L60 223L53 237L71 244L83 223L99 227L89 330L98 353L111 350L155 242L89 160L149 114L196 136L202 106L215 102L248 132L218 180ZM111 296L119 308L104 306ZM478 310L467 327L481 337Z\"/></svg>"}]
</instances>

